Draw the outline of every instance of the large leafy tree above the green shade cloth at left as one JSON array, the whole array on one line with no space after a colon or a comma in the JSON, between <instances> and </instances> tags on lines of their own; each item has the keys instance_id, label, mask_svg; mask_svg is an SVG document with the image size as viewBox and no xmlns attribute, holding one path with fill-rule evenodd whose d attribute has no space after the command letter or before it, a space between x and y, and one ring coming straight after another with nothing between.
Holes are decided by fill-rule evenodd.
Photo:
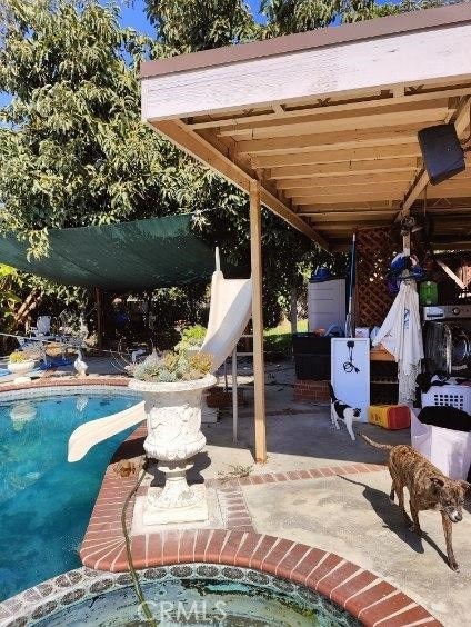
<instances>
[{"instance_id":1,"label":"large leafy tree above the green shade cloth at left","mask_svg":"<svg viewBox=\"0 0 471 627\"><path fill-rule=\"evenodd\" d=\"M1 230L47 251L51 228L193 208L207 171L142 125L149 40L96 0L2 0ZM179 172L179 178L174 172Z\"/></svg>"}]
</instances>

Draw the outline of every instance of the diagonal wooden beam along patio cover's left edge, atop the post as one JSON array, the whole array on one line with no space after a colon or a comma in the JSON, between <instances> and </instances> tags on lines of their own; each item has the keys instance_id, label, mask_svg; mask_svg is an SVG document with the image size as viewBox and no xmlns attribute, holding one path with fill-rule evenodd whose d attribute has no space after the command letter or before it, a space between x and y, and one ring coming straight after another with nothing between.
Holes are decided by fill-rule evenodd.
<instances>
[{"instance_id":1,"label":"diagonal wooden beam along patio cover's left edge, atop the post","mask_svg":"<svg viewBox=\"0 0 471 627\"><path fill-rule=\"evenodd\" d=\"M231 160L220 150L214 148L209 141L200 135L191 131L180 120L167 120L152 122L151 128L160 135L172 141L179 148L197 158L203 165L209 166L217 173L221 175L230 182L245 192L250 192L250 181L254 177L254 172L247 172L238 163ZM261 200L265 207L273 211L277 216L285 220L294 229L301 231L320 247L328 249L329 245L324 238L317 233L309 225L307 225L299 216L297 216L289 207L287 207L271 191L261 188Z\"/></svg>"}]
</instances>

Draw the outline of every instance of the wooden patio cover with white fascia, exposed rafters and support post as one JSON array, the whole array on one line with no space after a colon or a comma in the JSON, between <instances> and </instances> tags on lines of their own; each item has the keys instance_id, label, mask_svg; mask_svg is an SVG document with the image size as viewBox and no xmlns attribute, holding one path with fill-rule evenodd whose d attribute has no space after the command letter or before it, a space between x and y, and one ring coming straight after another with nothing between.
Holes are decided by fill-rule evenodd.
<instances>
[{"instance_id":1,"label":"wooden patio cover with white fascia, exposed rafters and support post","mask_svg":"<svg viewBox=\"0 0 471 627\"><path fill-rule=\"evenodd\" d=\"M335 250L355 228L422 212L427 193L434 246L471 248L471 168L429 185L417 139L443 122L470 137L470 44L463 3L142 64L143 120L250 193L257 460L260 202Z\"/></svg>"}]
</instances>

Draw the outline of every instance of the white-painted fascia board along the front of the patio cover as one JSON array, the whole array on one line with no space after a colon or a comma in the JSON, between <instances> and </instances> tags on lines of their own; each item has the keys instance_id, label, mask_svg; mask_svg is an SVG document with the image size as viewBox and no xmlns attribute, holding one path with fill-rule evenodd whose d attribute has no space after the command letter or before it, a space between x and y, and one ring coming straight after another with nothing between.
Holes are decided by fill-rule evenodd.
<instances>
[{"instance_id":1,"label":"white-painted fascia board along the front of the patio cover","mask_svg":"<svg viewBox=\"0 0 471 627\"><path fill-rule=\"evenodd\" d=\"M471 23L142 79L142 118L164 120L311 97L471 78Z\"/></svg>"}]
</instances>

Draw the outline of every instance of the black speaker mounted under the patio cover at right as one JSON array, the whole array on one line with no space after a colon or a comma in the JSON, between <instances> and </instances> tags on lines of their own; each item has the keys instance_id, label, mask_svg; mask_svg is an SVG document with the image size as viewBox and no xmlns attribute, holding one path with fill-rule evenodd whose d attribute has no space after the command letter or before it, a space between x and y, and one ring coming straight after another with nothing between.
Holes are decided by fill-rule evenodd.
<instances>
[{"instance_id":1,"label":"black speaker mounted under the patio cover at right","mask_svg":"<svg viewBox=\"0 0 471 627\"><path fill-rule=\"evenodd\" d=\"M418 138L432 185L439 185L465 170L464 151L454 125L428 127L418 132Z\"/></svg>"}]
</instances>

